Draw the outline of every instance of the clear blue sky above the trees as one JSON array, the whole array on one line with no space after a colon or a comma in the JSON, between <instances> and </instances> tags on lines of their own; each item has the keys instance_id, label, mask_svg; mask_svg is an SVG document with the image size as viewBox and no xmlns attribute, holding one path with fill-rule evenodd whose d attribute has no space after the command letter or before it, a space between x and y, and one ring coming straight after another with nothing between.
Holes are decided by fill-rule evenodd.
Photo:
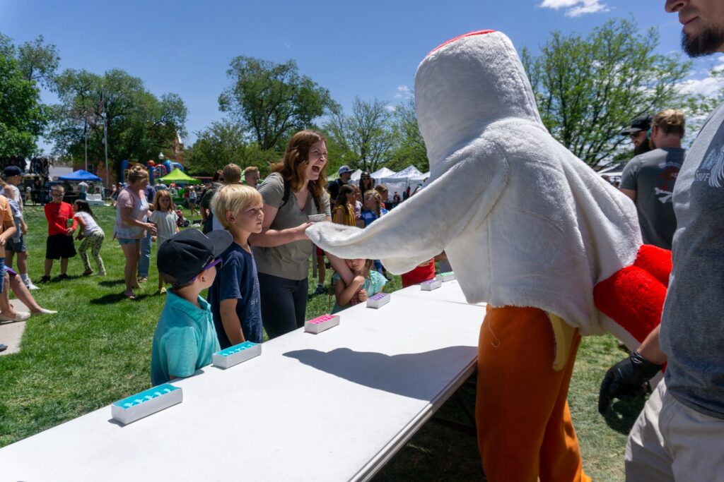
<instances>
[{"instance_id":1,"label":"clear blue sky above the trees","mask_svg":"<svg viewBox=\"0 0 724 482\"><path fill-rule=\"evenodd\" d=\"M327 87L349 109L355 96L390 105L407 95L421 59L445 40L471 30L506 33L536 52L552 30L586 34L612 17L658 28L660 51L679 51L679 25L664 1L448 0L138 1L0 0L0 32L15 43L44 35L58 46L61 69L101 74L120 68L156 95L175 92L189 110L187 145L222 119L217 99L230 85L237 55L282 62ZM712 89L706 72L719 56L696 62L691 89ZM46 102L54 96L43 92Z\"/></svg>"}]
</instances>

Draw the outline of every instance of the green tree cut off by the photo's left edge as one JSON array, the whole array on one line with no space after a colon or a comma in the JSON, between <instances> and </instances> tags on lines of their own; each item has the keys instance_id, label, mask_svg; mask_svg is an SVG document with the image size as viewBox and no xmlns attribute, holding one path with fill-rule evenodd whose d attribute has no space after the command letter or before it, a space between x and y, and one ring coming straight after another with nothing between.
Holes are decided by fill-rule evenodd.
<instances>
[{"instance_id":1,"label":"green tree cut off by the photo's left edge","mask_svg":"<svg viewBox=\"0 0 724 482\"><path fill-rule=\"evenodd\" d=\"M14 59L0 55L0 157L30 157L47 112L35 82L25 79Z\"/></svg>"}]
</instances>

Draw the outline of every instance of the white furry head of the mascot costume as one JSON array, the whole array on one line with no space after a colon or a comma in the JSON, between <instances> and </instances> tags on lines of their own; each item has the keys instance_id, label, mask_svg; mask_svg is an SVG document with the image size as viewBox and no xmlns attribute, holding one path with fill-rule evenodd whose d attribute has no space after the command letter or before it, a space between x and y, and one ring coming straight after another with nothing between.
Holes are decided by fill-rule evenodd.
<instances>
[{"instance_id":1,"label":"white furry head of the mascot costume","mask_svg":"<svg viewBox=\"0 0 724 482\"><path fill-rule=\"evenodd\" d=\"M513 43L494 30L460 35L430 52L417 69L415 100L431 171L494 121L542 125Z\"/></svg>"}]
</instances>

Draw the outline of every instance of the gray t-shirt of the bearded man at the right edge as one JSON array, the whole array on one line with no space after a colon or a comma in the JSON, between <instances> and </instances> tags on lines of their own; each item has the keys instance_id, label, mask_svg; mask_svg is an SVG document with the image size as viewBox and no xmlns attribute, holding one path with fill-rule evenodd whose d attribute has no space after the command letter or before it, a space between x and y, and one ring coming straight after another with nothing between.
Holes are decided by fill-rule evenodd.
<instances>
[{"instance_id":1,"label":"gray t-shirt of the bearded man at the right edge","mask_svg":"<svg viewBox=\"0 0 724 482\"><path fill-rule=\"evenodd\" d=\"M666 386L681 403L724 418L724 104L679 171L673 271L661 318Z\"/></svg>"}]
</instances>

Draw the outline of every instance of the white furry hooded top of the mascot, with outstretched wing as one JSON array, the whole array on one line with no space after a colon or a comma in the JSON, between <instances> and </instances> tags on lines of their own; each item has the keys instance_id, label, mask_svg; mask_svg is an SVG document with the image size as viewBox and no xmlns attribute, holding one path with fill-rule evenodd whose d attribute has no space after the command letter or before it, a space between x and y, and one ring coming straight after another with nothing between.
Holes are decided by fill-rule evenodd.
<instances>
[{"instance_id":1,"label":"white furry hooded top of the mascot, with outstretched wing","mask_svg":"<svg viewBox=\"0 0 724 482\"><path fill-rule=\"evenodd\" d=\"M445 250L468 302L534 306L602 332L593 288L636 258L636 208L547 132L508 37L443 44L415 91L427 186L364 230L312 225L311 241L392 273Z\"/></svg>"}]
</instances>

